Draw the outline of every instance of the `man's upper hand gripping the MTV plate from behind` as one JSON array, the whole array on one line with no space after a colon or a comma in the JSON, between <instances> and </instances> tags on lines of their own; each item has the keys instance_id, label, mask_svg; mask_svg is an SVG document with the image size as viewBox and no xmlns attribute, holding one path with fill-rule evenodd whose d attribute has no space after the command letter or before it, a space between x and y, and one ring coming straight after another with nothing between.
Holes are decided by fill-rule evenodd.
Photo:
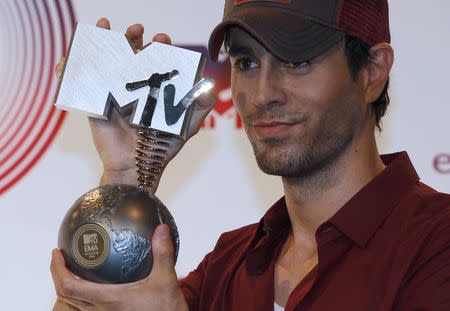
<instances>
[{"instance_id":1,"label":"man's upper hand gripping the MTV plate from behind","mask_svg":"<svg viewBox=\"0 0 450 311\"><path fill-rule=\"evenodd\" d=\"M97 22L97 26L105 29L110 29L110 23L106 18L102 18ZM136 51L142 49L143 46L144 27L140 24L135 24L128 27L125 35ZM165 34L157 34L153 37L155 42L171 44L171 39ZM56 75L61 76L64 68L65 59L56 66ZM215 98L211 94L204 95L194 102L194 111L187 129L187 139L194 136L200 129L203 119L208 115L215 104ZM104 121L99 119L89 118L92 137L95 147L103 163L103 175L100 179L100 184L107 183L123 183L136 185L137 172L135 150L137 147L136 129L120 115L120 113L113 109L111 113L111 120ZM164 147L167 154L165 165L175 157L181 150L185 141L180 138L172 137L164 139L169 143L169 147ZM160 148L159 146L155 146ZM160 174L161 175L161 174ZM159 180L153 183L149 191L155 192Z\"/></svg>"}]
</instances>

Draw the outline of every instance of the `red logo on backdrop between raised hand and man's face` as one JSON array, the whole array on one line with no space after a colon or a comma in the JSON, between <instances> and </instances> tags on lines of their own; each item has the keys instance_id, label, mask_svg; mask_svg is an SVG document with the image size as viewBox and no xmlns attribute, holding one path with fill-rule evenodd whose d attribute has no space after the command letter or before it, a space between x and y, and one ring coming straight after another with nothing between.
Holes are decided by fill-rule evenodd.
<instances>
[{"instance_id":1,"label":"red logo on backdrop between raised hand and man's face","mask_svg":"<svg viewBox=\"0 0 450 311\"><path fill-rule=\"evenodd\" d=\"M207 49L204 46L184 45L183 47L207 55ZM216 81L214 93L217 98L217 103L209 116L206 117L202 127L215 128L217 118L227 118L233 120L236 128L242 128L241 118L236 112L236 109L234 109L231 100L231 66L229 58L223 54L219 55L217 62L211 62L207 58L204 76L213 78Z\"/></svg>"}]
</instances>

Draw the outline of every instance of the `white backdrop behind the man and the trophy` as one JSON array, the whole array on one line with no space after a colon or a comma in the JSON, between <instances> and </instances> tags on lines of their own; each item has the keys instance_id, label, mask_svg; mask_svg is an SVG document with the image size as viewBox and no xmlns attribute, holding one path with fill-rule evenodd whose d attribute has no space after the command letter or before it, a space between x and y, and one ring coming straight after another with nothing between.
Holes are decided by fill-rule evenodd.
<instances>
[{"instance_id":1,"label":"white backdrop behind the man and the trophy","mask_svg":"<svg viewBox=\"0 0 450 311\"><path fill-rule=\"evenodd\" d=\"M58 4L55 1L41 2L48 3L52 11ZM2 10L4 13L12 10L16 2L22 1L2 0L0 14ZM42 5L39 0L27 3L32 2L38 3L38 8ZM66 7L70 2L60 4ZM206 45L223 9L223 0L76 0L72 4L76 20L80 22L95 24L99 17L106 16L118 31L141 22L146 27L146 42L154 33L166 32L176 44L197 46ZM397 0L391 1L390 7L396 61L391 82L392 102L379 137L380 149L383 153L407 150L424 182L450 192L450 21L447 14L450 2ZM28 12L34 14L32 5ZM8 16L5 15L0 24L13 25L14 20L20 19L20 16ZM67 24L67 20L68 17L64 23ZM8 29L8 33L0 31L3 86L0 86L3 93L0 94L3 100L0 118L8 108L2 105L11 101L5 85L21 81L21 76L8 68L14 68L15 56L30 52L21 51L16 41L31 42L34 38L17 27ZM44 32L50 34L50 28ZM57 29L55 36L58 37ZM38 39L35 41L39 43ZM59 58L58 53L61 53L48 51L46 64L51 63L47 58ZM39 49L31 53L34 62L25 62L24 68L33 68L42 61ZM40 85L43 84L35 87ZM54 91L55 86L53 79L51 90ZM222 99L227 101L226 88L222 91ZM48 96L48 105L51 105L52 96ZM20 100L19 96L15 105L25 110L30 100L33 99L23 97ZM180 231L177 263L180 276L196 267L221 232L258 221L282 194L279 179L266 176L257 168L243 130L236 127L234 110L224 110L214 111L214 127L202 129L173 160L157 192L172 211ZM0 135L1 126L0 123ZM11 125L10 133L14 126L19 125ZM0 136L0 148L5 137ZM19 151L12 153L11 159ZM5 183L7 179L2 170L7 169L7 161L11 160L2 162L7 152L8 149L0 149L0 187L2 176ZM75 199L97 185L100 173L101 163L90 140L86 119L69 114L37 164L1 193L1 310L51 308L55 295L48 266L51 250L56 246L59 223Z\"/></svg>"}]
</instances>

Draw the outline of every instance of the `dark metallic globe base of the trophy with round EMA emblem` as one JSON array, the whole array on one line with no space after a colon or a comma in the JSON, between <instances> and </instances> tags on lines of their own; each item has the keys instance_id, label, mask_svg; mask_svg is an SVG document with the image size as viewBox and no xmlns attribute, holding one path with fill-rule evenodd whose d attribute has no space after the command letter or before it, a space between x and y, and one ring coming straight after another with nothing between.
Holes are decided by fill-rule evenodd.
<instances>
[{"instance_id":1,"label":"dark metallic globe base of the trophy with round EMA emblem","mask_svg":"<svg viewBox=\"0 0 450 311\"><path fill-rule=\"evenodd\" d=\"M81 196L59 229L58 247L75 275L98 283L129 283L145 278L153 264L151 237L169 225L178 256L178 230L172 215L148 191L104 185Z\"/></svg>"}]
</instances>

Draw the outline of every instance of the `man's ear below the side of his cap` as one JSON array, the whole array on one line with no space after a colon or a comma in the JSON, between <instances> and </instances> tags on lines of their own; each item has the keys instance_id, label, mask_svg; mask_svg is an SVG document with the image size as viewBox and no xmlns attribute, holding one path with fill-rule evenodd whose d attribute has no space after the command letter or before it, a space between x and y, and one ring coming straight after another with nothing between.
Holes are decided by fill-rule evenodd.
<instances>
[{"instance_id":1,"label":"man's ear below the side of his cap","mask_svg":"<svg viewBox=\"0 0 450 311\"><path fill-rule=\"evenodd\" d=\"M394 63L394 50L388 43L374 45L369 54L370 58L365 70L366 103L374 102L381 95Z\"/></svg>"}]
</instances>

